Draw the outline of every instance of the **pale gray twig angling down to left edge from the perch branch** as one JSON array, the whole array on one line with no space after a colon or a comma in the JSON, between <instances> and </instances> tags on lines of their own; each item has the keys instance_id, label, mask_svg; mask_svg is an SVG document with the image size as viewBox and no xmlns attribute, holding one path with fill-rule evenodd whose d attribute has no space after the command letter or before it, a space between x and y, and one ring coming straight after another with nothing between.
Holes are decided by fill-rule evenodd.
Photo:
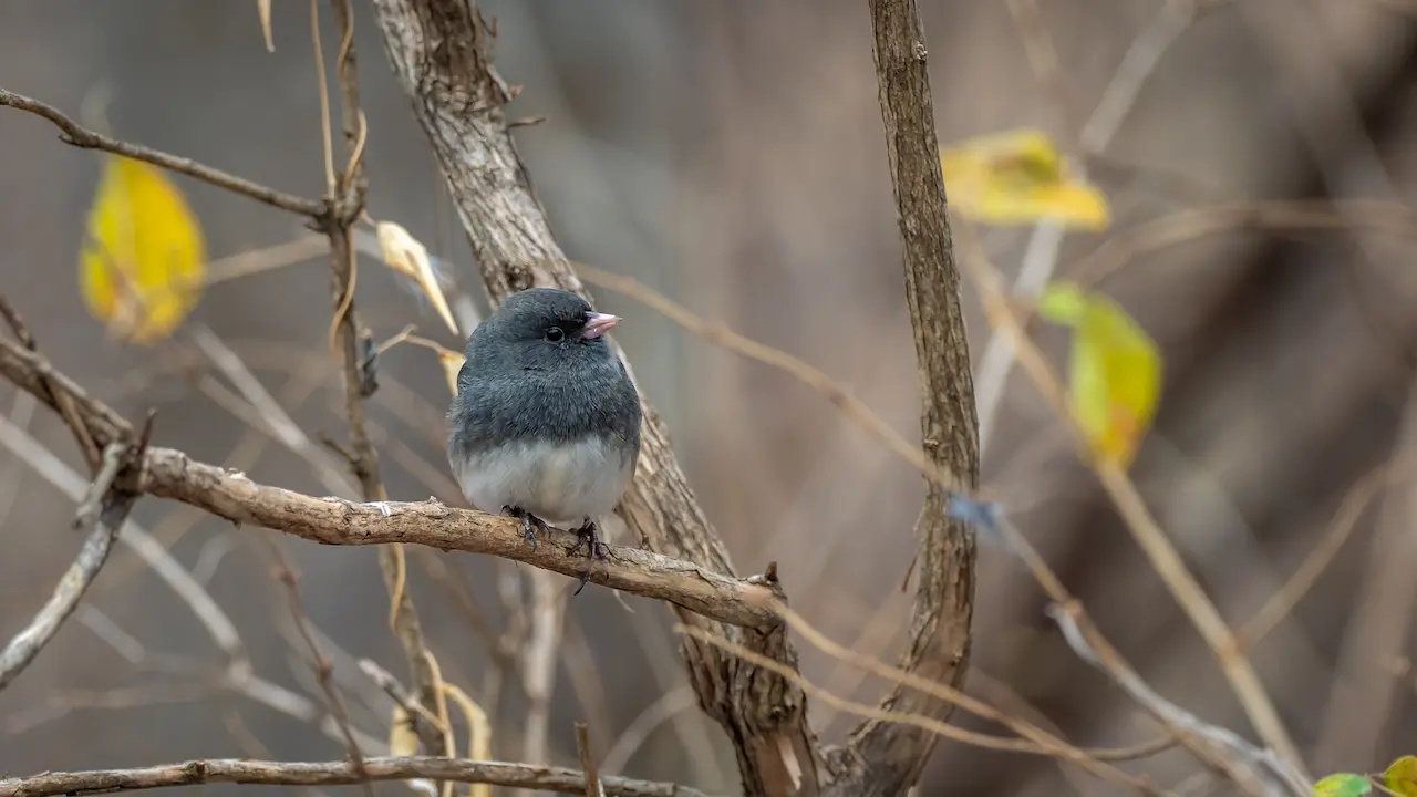
<instances>
[{"instance_id":1,"label":"pale gray twig angling down to left edge from the perch branch","mask_svg":"<svg viewBox=\"0 0 1417 797\"><path fill-rule=\"evenodd\" d=\"M79 601L84 600L84 593L88 591L89 584L94 583L99 570L103 569L103 563L108 562L108 554L113 550L113 542L118 539L118 533L123 528L123 520L136 501L136 495L128 492L118 492L115 495L112 491L113 479L118 478L126 454L128 447L119 442L111 442L103 450L103 467L99 469L98 476L94 478L94 484L82 503L79 503L77 513L82 526L92 526L92 529L84 540L84 546L79 547L79 554L54 587L54 594L50 596L50 600L6 644L4 650L0 650L0 689L9 686L40 655L44 645L50 644L50 640L58 634L60 625L64 624ZM102 512L99 506L102 506Z\"/></svg>"}]
</instances>

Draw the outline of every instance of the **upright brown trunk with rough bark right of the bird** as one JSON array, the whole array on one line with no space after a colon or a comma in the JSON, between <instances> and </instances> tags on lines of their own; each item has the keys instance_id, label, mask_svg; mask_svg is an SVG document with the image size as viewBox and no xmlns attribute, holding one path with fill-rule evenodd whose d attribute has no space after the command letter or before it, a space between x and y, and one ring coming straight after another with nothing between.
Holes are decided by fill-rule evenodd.
<instances>
[{"instance_id":1,"label":"upright brown trunk with rough bark right of the bird","mask_svg":"<svg viewBox=\"0 0 1417 797\"><path fill-rule=\"evenodd\" d=\"M939 174L925 34L914 0L869 0L886 152L905 260L905 301L915 330L922 403L921 438L931 464L956 485L979 482L979 437L959 305L959 272ZM901 669L959 686L969 659L973 614L973 537L947 512L944 485L930 481L917 520L920 583L910 647ZM883 703L896 712L945 719L952 705L896 686ZM908 725L870 720L852 735L846 760L857 783L842 794L903 794L918 779L935 736ZM850 779L849 779L850 780Z\"/></svg>"}]
</instances>

